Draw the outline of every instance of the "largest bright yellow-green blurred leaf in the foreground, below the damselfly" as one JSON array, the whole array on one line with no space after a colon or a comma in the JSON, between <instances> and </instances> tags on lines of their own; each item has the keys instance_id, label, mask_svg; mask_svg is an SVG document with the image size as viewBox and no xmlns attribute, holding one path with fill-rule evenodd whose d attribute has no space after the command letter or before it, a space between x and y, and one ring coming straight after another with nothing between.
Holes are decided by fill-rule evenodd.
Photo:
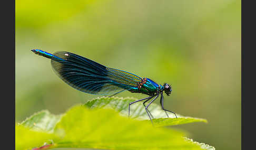
<instances>
[{"instance_id":1,"label":"largest bright yellow-green blurred leaf in the foreground, below the damselfly","mask_svg":"<svg viewBox=\"0 0 256 150\"><path fill-rule=\"evenodd\" d=\"M150 122L120 116L113 109L74 106L56 124L54 133L62 137L54 148L201 149L185 141L180 131L156 128Z\"/></svg>"}]
</instances>

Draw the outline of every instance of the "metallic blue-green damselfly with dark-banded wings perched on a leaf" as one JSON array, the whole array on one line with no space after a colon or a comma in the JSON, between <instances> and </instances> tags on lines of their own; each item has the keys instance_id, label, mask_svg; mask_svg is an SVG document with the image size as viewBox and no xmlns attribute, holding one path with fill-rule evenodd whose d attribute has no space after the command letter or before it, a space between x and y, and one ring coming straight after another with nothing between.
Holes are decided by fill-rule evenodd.
<instances>
[{"instance_id":1,"label":"metallic blue-green damselfly with dark-banded wings perched on a leaf","mask_svg":"<svg viewBox=\"0 0 256 150\"><path fill-rule=\"evenodd\" d=\"M163 85L157 84L149 78L141 78L133 73L108 68L100 63L78 56L71 52L57 51L51 54L39 49L33 49L32 51L37 55L50 58L52 68L57 76L71 87L82 92L113 96L127 90L132 93L143 93L149 95L149 97L129 104L129 117L131 104L145 100L143 105L145 106L146 113L149 115L152 122L151 117L153 118L153 115L150 113L148 108L150 104L159 97L159 95L161 95L160 103L162 105L162 110L164 110L165 113L166 111L174 113L164 109L163 105L163 91L167 95L172 92L172 87L167 83L164 83ZM153 100L151 100L152 98ZM149 100L151 100L150 103L145 105ZM168 113L166 113L166 115L168 116Z\"/></svg>"}]
</instances>

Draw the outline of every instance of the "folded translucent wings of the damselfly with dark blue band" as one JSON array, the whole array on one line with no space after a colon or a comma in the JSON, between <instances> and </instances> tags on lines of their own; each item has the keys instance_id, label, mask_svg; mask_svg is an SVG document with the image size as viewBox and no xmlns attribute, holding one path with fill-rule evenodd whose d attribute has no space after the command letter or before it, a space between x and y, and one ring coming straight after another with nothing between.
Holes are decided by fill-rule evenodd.
<instances>
[{"instance_id":1,"label":"folded translucent wings of the damselfly with dark blue band","mask_svg":"<svg viewBox=\"0 0 256 150\"><path fill-rule=\"evenodd\" d=\"M82 92L109 95L136 87L140 77L107 68L71 52L57 51L51 58L54 72L65 83Z\"/></svg>"}]
</instances>

